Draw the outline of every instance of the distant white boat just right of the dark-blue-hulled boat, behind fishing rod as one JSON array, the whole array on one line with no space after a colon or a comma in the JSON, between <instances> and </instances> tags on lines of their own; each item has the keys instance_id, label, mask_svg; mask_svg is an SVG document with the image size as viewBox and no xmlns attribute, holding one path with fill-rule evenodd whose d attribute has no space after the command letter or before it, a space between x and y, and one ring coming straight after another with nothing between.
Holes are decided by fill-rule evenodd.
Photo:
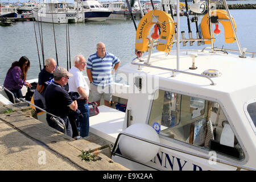
<instances>
[{"instance_id":1,"label":"distant white boat just right of the dark-blue-hulled boat, behind fishing rod","mask_svg":"<svg viewBox=\"0 0 256 182\"><path fill-rule=\"evenodd\" d=\"M126 6L126 3L123 1L102 1L102 5L109 10L112 10L112 14L110 14L109 19L131 19L131 14ZM132 7L133 16L135 19L140 19L141 11L139 10L138 2L134 2L134 6Z\"/></svg>"}]
</instances>

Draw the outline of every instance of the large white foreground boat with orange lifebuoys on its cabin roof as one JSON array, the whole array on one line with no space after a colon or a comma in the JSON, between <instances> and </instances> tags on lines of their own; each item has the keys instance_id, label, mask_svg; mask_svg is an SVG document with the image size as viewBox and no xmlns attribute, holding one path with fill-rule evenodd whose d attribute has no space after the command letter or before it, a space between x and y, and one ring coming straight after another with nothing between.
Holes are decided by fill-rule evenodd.
<instances>
[{"instance_id":1,"label":"large white foreground boat with orange lifebuoys on its cabin roof","mask_svg":"<svg viewBox=\"0 0 256 182\"><path fill-rule=\"evenodd\" d=\"M212 13L228 31L225 41L237 43L238 51L214 47ZM131 58L118 71L129 85L115 83L113 100L126 103L126 112L99 106L100 114L90 117L90 133L109 142L114 162L133 170L256 169L255 52L241 47L229 10L209 14L201 20L203 39L174 39L179 14L177 24L160 10L143 16L136 49L148 50L147 34L155 23L164 31L151 40L148 55ZM155 23L146 21L150 18ZM180 50L179 43L189 41L210 47ZM177 49L170 50L174 43ZM153 47L160 52L152 53ZM5 92L0 96L10 104Z\"/></svg>"}]
</instances>

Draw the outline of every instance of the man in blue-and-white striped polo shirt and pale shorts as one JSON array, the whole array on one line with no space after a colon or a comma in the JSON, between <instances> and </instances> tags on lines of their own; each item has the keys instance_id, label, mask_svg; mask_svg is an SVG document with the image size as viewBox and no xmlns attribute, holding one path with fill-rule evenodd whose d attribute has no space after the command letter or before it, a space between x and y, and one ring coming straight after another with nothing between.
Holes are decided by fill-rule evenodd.
<instances>
[{"instance_id":1,"label":"man in blue-and-white striped polo shirt and pale shorts","mask_svg":"<svg viewBox=\"0 0 256 182\"><path fill-rule=\"evenodd\" d=\"M112 100L112 75L121 64L118 57L112 53L106 52L105 44L97 44L97 52L89 56L86 65L87 76L90 81L90 90L92 91L92 100L100 106L101 97L103 96L104 105L111 106ZM114 68L112 69L114 65Z\"/></svg>"}]
</instances>

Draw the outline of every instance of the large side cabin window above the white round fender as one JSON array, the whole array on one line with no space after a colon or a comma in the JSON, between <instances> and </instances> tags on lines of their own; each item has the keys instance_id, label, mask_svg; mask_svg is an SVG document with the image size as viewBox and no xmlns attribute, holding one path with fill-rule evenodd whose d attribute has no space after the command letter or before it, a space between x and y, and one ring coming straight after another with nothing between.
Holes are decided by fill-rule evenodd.
<instances>
[{"instance_id":1,"label":"large side cabin window above the white round fender","mask_svg":"<svg viewBox=\"0 0 256 182\"><path fill-rule=\"evenodd\" d=\"M217 102L158 90L148 125L159 135L242 160L242 148ZM254 110L256 104L254 105ZM256 113L256 112L255 112ZM256 114L254 115L256 118Z\"/></svg>"}]
</instances>

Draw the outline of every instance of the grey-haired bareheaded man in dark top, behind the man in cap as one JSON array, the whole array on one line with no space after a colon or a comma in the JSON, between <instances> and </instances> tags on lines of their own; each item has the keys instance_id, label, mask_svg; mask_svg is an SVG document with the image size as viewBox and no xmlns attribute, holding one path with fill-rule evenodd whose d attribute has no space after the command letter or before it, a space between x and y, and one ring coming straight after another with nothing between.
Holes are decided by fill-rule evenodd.
<instances>
[{"instance_id":1,"label":"grey-haired bareheaded man in dark top, behind the man in cap","mask_svg":"<svg viewBox=\"0 0 256 182\"><path fill-rule=\"evenodd\" d=\"M46 109L46 100L44 99L44 92L46 87L53 82L53 72L56 68L56 61L49 57L45 61L45 66L38 76L38 85L33 96L34 104L42 109ZM35 108L34 108L35 109ZM40 110L36 109L39 113Z\"/></svg>"}]
</instances>

